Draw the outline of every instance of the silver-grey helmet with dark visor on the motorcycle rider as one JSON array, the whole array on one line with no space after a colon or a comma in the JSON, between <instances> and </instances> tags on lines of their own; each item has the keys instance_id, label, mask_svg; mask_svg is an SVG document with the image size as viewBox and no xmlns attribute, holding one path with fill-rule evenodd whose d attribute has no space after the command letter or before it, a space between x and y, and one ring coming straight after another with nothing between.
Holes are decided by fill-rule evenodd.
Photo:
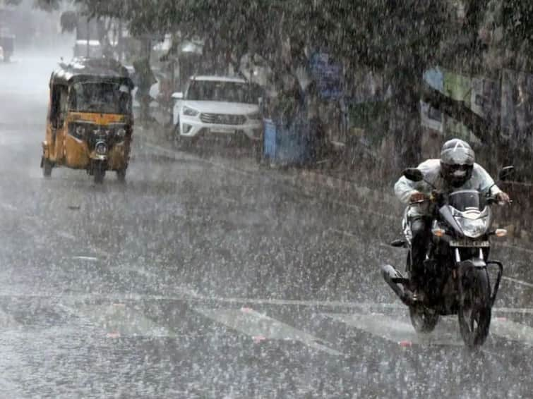
<instances>
[{"instance_id":1,"label":"silver-grey helmet with dark visor on the motorcycle rider","mask_svg":"<svg viewBox=\"0 0 533 399\"><path fill-rule=\"evenodd\" d=\"M448 140L441 150L441 176L453 187L461 187L472 177L474 161L474 150L467 142Z\"/></svg>"}]
</instances>

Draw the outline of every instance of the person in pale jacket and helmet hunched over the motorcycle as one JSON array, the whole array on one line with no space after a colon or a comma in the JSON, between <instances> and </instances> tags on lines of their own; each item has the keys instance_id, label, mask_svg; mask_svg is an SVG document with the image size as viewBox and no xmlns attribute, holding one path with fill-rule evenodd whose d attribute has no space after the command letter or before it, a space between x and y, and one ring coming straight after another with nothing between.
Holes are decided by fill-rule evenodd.
<instances>
[{"instance_id":1,"label":"person in pale jacket and helmet hunched over the motorcycle","mask_svg":"<svg viewBox=\"0 0 533 399\"><path fill-rule=\"evenodd\" d=\"M499 204L510 202L485 169L476 164L470 145L454 138L444 143L441 159L428 159L418 166L424 180L414 182L405 176L395 183L395 195L409 204L405 219L407 236L411 235L411 281L416 293L424 283L424 260L431 238L431 204L429 197L433 190L453 192L457 190L478 190L482 194L496 197ZM430 184L434 186L431 187ZM489 193L490 190L490 193Z\"/></svg>"}]
</instances>

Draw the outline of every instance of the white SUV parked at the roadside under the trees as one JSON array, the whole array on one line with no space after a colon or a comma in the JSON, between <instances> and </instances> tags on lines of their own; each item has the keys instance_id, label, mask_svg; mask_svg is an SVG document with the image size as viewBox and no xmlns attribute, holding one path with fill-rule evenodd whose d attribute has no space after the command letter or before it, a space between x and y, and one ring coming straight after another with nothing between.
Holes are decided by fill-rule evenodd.
<instances>
[{"instance_id":1,"label":"white SUV parked at the roadside under the trees","mask_svg":"<svg viewBox=\"0 0 533 399\"><path fill-rule=\"evenodd\" d=\"M242 78L193 76L185 94L172 98L177 140L225 135L258 144L261 139L258 90Z\"/></svg>"}]
</instances>

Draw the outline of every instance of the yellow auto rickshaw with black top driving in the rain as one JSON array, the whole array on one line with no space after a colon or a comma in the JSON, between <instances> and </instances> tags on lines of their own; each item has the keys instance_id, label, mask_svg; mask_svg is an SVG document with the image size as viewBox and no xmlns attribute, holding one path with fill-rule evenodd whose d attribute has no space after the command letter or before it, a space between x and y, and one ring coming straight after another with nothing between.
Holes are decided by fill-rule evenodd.
<instances>
[{"instance_id":1,"label":"yellow auto rickshaw with black top driving in the rain","mask_svg":"<svg viewBox=\"0 0 533 399\"><path fill-rule=\"evenodd\" d=\"M50 78L44 176L66 166L84 169L102 183L106 171L126 178L133 133L133 82L111 59L73 59Z\"/></svg>"}]
</instances>

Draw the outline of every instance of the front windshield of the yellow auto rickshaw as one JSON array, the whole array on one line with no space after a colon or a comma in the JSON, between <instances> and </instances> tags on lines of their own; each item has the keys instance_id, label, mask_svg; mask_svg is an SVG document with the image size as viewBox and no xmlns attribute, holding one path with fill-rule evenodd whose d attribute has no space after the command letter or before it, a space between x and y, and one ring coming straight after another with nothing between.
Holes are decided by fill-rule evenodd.
<instances>
[{"instance_id":1,"label":"front windshield of the yellow auto rickshaw","mask_svg":"<svg viewBox=\"0 0 533 399\"><path fill-rule=\"evenodd\" d=\"M128 87L117 83L76 83L70 93L69 105L73 111L128 114L131 112L131 94Z\"/></svg>"}]
</instances>

